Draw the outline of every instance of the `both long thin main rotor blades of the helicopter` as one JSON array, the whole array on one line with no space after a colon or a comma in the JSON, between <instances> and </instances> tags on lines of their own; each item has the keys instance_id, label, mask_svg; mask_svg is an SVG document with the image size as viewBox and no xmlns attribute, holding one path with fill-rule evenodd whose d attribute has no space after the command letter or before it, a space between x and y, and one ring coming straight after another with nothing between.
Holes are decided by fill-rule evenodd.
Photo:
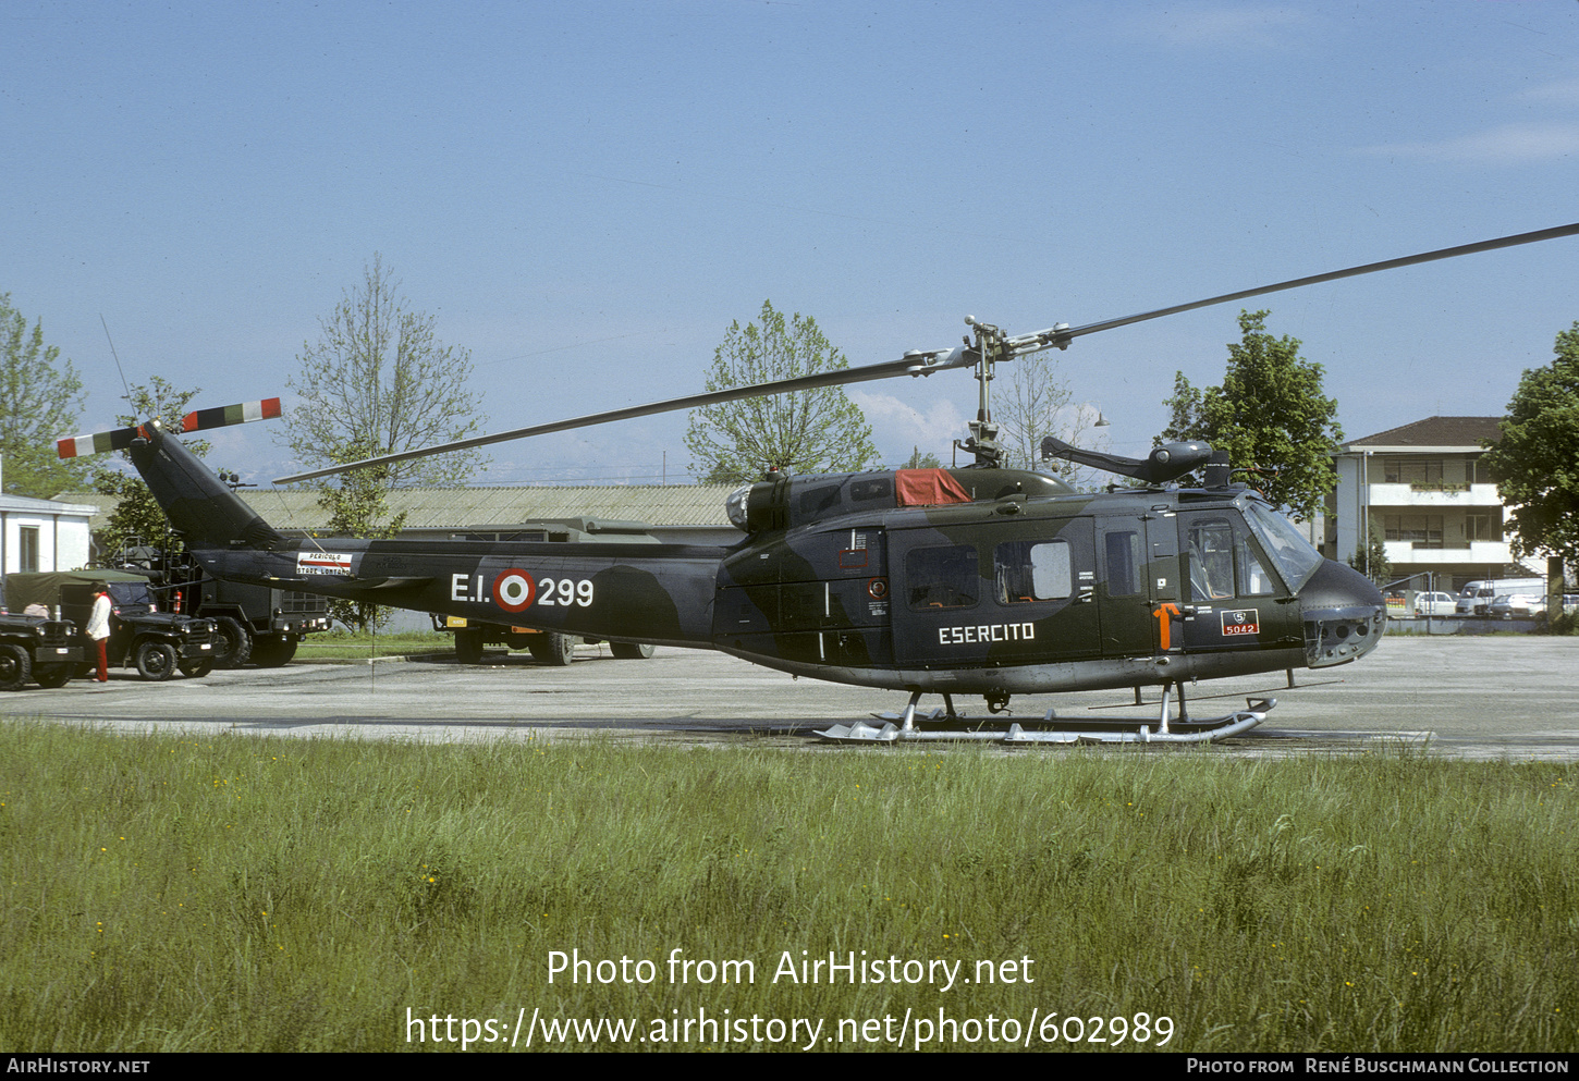
<instances>
[{"instance_id":1,"label":"both long thin main rotor blades of the helicopter","mask_svg":"<svg viewBox=\"0 0 1579 1081\"><path fill-rule=\"evenodd\" d=\"M1538 240L1555 240L1557 237L1573 237L1579 234L1579 223L1571 226L1557 226L1554 229L1540 229L1536 232L1521 232L1510 237L1497 237L1495 240L1481 240L1472 245L1457 245L1454 248L1440 248L1437 251L1426 251L1418 256L1404 256L1402 259L1386 259L1383 262L1364 264L1363 267L1350 267L1347 270L1333 270L1325 275L1311 275L1309 278L1293 278L1290 281L1281 281L1276 286L1258 286L1255 289L1243 289L1233 294L1222 294L1221 297L1208 297L1206 300L1194 300L1187 305L1173 305L1172 308L1157 308L1154 311L1143 311L1135 316L1124 316L1123 319L1105 319L1097 324L1085 324L1083 327L1055 327L1052 330L1041 330L1034 335L1023 335L1009 339L1015 347L1015 355L1026 352L1037 352L1042 349L1052 349L1055 346L1067 346L1072 339L1082 338L1085 335L1094 335L1099 330L1116 330L1118 327L1127 327L1131 324L1146 322L1148 319L1162 319L1164 316L1176 316L1184 311L1194 311L1195 308L1210 308L1211 305L1225 305L1233 300L1246 300L1249 297L1265 297L1266 294L1281 292L1284 289L1298 289L1301 286L1315 286L1323 281L1337 281L1339 278L1358 278L1360 275L1372 275L1378 270L1397 270L1399 267L1413 267L1415 264L1432 262L1437 259L1454 259L1456 256L1472 256L1480 251L1494 251L1497 248L1513 248L1517 245L1532 245ZM630 409L614 409L606 413L592 413L589 417L576 417L575 420L559 420L549 425L534 425L532 428L516 428L507 432L496 432L493 436L475 436L472 439L461 439L453 443L437 443L434 447L423 447L420 450L407 450L396 454L382 454L379 458L368 458L358 462L347 462L344 466L332 466L328 469L316 469L308 473L295 473L294 477L281 477L276 484L294 484L302 480L316 480L319 477L332 477L335 473L344 473L352 469L366 469L369 466L388 466L393 462L404 462L414 458L426 458L428 454L442 454L452 450L471 450L474 447L488 447L489 443L502 443L512 439L526 439L527 436L546 436L549 432L562 432L575 428L592 428L594 425L608 425L616 420L633 420L636 417L652 417L654 413L669 413L681 409L699 409L703 406L717 406L718 402L739 401L741 398L756 398L767 395L785 395L796 390L815 390L820 387L842 387L846 383L862 383L873 379L894 379L897 376L930 376L935 371L943 371L946 368L968 368L974 365L977 355L973 349L954 347L952 350L933 350L933 352L911 352L900 360L889 360L878 365L865 365L862 368L838 368L834 371L818 372L815 376L801 376L796 379L780 379L772 383L753 383L750 387L733 387L729 390L718 390L704 395L692 395L688 398L673 398L669 401L654 402L651 406L632 406Z\"/></svg>"}]
</instances>

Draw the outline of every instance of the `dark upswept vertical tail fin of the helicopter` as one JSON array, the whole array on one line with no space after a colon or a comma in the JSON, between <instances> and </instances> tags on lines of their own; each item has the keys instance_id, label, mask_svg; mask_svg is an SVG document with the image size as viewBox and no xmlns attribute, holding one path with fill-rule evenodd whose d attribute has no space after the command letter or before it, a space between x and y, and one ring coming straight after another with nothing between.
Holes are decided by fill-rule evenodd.
<instances>
[{"instance_id":1,"label":"dark upswept vertical tail fin of the helicopter","mask_svg":"<svg viewBox=\"0 0 1579 1081\"><path fill-rule=\"evenodd\" d=\"M171 526L191 548L292 548L180 440L148 421L126 448Z\"/></svg>"}]
</instances>

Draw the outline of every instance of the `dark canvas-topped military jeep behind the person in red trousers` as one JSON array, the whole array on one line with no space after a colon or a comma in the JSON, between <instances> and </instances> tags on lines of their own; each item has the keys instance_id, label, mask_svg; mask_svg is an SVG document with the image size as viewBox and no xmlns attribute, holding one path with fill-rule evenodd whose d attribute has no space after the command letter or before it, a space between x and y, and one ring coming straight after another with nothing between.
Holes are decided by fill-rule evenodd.
<instances>
[{"instance_id":1,"label":"dark canvas-topped military jeep behind the person in red trousers","mask_svg":"<svg viewBox=\"0 0 1579 1081\"><path fill-rule=\"evenodd\" d=\"M71 620L82 649L77 669L84 671L98 658L87 638L95 582L104 582L109 590L107 655L112 666L136 668L147 680L166 680L177 671L197 679L213 669L213 622L161 611L145 574L114 570L8 574L6 604L43 604Z\"/></svg>"}]
</instances>

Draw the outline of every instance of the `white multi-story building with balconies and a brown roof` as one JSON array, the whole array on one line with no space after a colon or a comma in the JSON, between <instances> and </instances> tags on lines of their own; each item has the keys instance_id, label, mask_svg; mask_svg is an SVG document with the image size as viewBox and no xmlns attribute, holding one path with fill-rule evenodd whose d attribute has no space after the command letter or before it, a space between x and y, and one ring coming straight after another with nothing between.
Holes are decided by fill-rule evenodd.
<instances>
[{"instance_id":1,"label":"white multi-story building with balconies and a brown roof","mask_svg":"<svg viewBox=\"0 0 1579 1081\"><path fill-rule=\"evenodd\" d=\"M1481 462L1500 425L1500 417L1429 417L1339 447L1328 552L1350 562L1375 538L1394 579L1431 573L1448 592L1478 578L1544 574L1517 563L1503 538L1502 499Z\"/></svg>"}]
</instances>

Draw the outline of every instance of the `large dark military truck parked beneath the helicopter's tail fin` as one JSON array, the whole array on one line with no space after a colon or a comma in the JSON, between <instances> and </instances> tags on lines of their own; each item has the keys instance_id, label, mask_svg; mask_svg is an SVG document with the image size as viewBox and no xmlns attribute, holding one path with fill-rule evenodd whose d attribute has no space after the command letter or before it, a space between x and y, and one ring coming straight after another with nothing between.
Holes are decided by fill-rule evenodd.
<instances>
[{"instance_id":1,"label":"large dark military truck parked beneath the helicopter's tail fin","mask_svg":"<svg viewBox=\"0 0 1579 1081\"><path fill-rule=\"evenodd\" d=\"M169 611L212 619L215 668L279 668L303 636L330 627L327 597L207 578L185 552L167 559L158 548L128 548L111 563L147 574Z\"/></svg>"}]
</instances>

